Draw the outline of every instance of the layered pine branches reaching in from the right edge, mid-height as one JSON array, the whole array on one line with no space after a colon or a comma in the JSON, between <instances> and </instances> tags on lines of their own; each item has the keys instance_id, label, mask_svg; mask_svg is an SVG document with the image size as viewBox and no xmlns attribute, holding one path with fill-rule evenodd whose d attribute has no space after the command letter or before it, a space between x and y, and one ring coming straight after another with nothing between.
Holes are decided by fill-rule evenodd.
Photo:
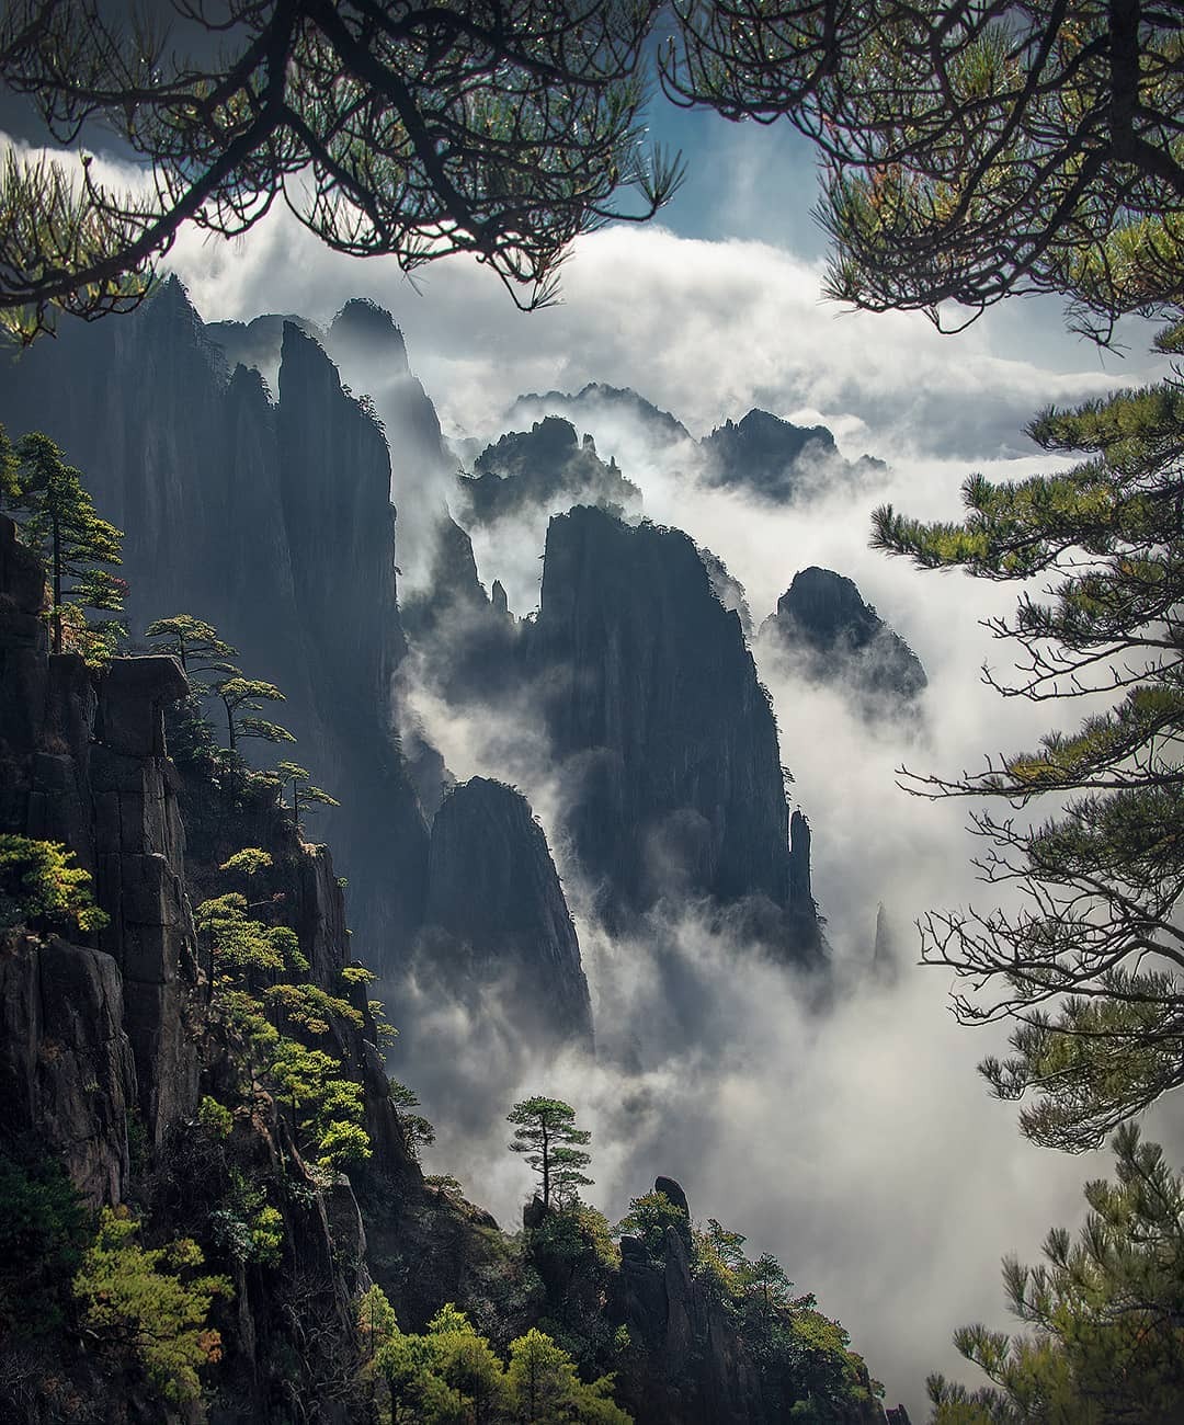
<instances>
[{"instance_id":1,"label":"layered pine branches reaching in from the right edge, mid-height","mask_svg":"<svg viewBox=\"0 0 1184 1425\"><path fill-rule=\"evenodd\" d=\"M977 865L1022 892L1019 909L930 915L923 955L970 986L963 1022L1014 1022L1012 1056L982 1072L1030 1100L1023 1131L1077 1150L1184 1083L1184 386L1049 410L1030 435L1084 459L1014 483L970 476L959 523L876 510L873 544L977 579L1044 576L989 624L1020 650L1019 678L989 681L1033 701L1108 694L1073 732L910 784L1006 802L975 814Z\"/></svg>"}]
</instances>

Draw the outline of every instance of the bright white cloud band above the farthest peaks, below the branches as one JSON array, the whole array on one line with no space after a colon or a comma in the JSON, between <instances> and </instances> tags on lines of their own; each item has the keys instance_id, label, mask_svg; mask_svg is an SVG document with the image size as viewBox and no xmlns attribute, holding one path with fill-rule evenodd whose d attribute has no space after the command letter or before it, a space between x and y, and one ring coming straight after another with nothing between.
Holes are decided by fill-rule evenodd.
<instances>
[{"instance_id":1,"label":"bright white cloud band above the farthest peaks, below the branches","mask_svg":"<svg viewBox=\"0 0 1184 1425\"><path fill-rule=\"evenodd\" d=\"M1124 369L1049 372L995 348L990 321L945 338L916 314L842 312L821 266L762 242L705 242L657 227L608 228L576 244L560 306L520 314L489 272L446 259L416 275L390 259L329 252L275 212L238 245L184 234L170 256L207 319L299 311L326 319L370 296L403 326L412 363L446 426L487 432L523 390L631 385L695 433L752 405L809 408L845 436L970 459L1023 447L1047 402L1099 393ZM848 455L859 455L852 447Z\"/></svg>"}]
</instances>

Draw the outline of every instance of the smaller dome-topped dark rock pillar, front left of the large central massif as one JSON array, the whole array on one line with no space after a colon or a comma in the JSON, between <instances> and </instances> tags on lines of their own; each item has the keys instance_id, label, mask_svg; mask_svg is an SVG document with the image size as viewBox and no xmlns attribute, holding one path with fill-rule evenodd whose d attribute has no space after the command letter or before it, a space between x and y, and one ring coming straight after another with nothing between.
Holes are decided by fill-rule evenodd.
<instances>
[{"instance_id":1,"label":"smaller dome-topped dark rock pillar, front left of the large central massif","mask_svg":"<svg viewBox=\"0 0 1184 1425\"><path fill-rule=\"evenodd\" d=\"M474 980L504 985L531 1042L591 1047L576 926L543 828L517 791L474 777L449 792L432 824L425 919L420 972L459 999Z\"/></svg>"}]
</instances>

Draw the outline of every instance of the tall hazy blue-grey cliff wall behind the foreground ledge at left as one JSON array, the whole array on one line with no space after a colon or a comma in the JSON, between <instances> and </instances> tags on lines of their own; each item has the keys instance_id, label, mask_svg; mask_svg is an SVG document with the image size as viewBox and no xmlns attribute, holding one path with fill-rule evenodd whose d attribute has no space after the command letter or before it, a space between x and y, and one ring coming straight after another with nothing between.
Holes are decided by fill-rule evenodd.
<instances>
[{"instance_id":1,"label":"tall hazy blue-grey cliff wall behind the foreground ledge at left","mask_svg":"<svg viewBox=\"0 0 1184 1425\"><path fill-rule=\"evenodd\" d=\"M252 351L274 339L266 323L238 335ZM171 281L127 321L67 323L33 348L0 385L0 420L51 433L127 532L134 630L195 614L286 694L276 720L342 802L322 826L358 888L358 933L398 959L420 919L427 831L392 730L405 643L390 462L294 322L281 323L278 388L276 406L256 370L228 375Z\"/></svg>"}]
</instances>

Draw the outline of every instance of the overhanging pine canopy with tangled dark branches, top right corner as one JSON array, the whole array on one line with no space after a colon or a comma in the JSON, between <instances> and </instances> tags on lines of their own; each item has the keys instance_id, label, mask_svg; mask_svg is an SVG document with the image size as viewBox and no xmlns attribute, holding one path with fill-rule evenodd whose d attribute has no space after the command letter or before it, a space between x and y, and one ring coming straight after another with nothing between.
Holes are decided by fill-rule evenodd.
<instances>
[{"instance_id":1,"label":"overhanging pine canopy with tangled dark branches, top right corner","mask_svg":"<svg viewBox=\"0 0 1184 1425\"><path fill-rule=\"evenodd\" d=\"M977 315L1070 298L1107 339L1184 271L1177 0L675 0L665 91L788 117L826 164L831 295ZM965 316L956 318L965 321Z\"/></svg>"}]
</instances>

